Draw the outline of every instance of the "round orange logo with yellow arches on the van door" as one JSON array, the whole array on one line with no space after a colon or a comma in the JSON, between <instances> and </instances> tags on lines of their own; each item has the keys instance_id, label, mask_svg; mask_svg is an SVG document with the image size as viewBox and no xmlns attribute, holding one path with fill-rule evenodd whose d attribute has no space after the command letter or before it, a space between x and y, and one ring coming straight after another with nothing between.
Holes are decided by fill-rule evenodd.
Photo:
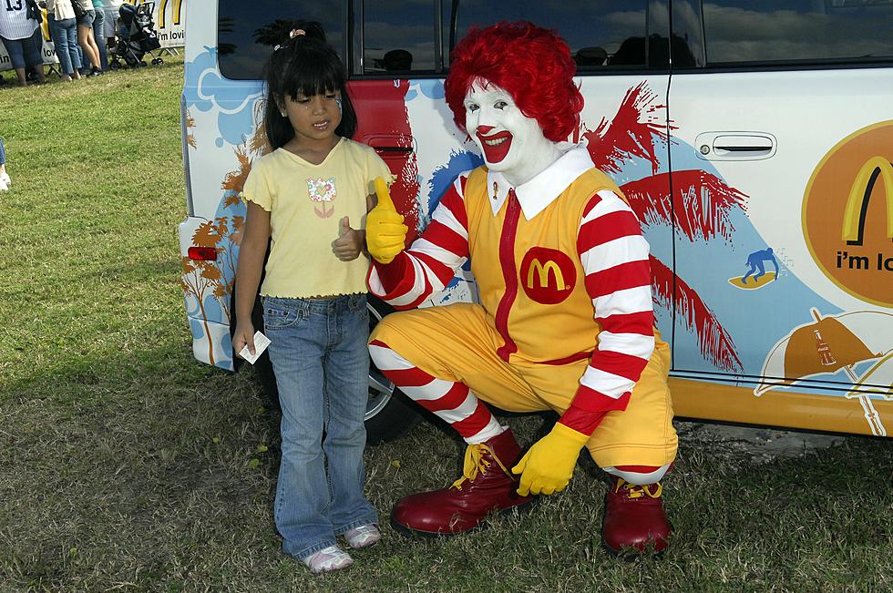
<instances>
[{"instance_id":1,"label":"round orange logo with yellow arches on the van door","mask_svg":"<svg viewBox=\"0 0 893 593\"><path fill-rule=\"evenodd\" d=\"M893 120L837 143L803 198L806 246L842 290L893 307Z\"/></svg>"}]
</instances>

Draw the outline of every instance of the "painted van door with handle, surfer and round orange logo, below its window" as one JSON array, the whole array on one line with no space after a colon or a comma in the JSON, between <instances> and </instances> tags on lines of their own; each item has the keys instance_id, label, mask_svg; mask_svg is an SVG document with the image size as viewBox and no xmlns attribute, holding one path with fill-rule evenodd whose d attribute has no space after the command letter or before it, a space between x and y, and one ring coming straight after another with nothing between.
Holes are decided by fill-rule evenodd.
<instances>
[{"instance_id":1,"label":"painted van door with handle, surfer and round orange logo, below its window","mask_svg":"<svg viewBox=\"0 0 893 593\"><path fill-rule=\"evenodd\" d=\"M677 233L676 274L712 295L724 334L704 353L677 317L673 374L742 387L723 410L674 393L680 414L893 430L891 98L882 67L673 76L676 190L697 169L735 192L710 211L685 201L681 228L710 232Z\"/></svg>"}]
</instances>

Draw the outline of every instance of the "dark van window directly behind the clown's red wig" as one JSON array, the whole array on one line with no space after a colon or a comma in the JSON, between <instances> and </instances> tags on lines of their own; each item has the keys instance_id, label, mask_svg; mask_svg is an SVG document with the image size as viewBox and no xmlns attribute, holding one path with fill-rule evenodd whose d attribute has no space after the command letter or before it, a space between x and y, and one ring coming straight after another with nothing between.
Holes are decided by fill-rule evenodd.
<instances>
[{"instance_id":1,"label":"dark van window directly behind the clown's red wig","mask_svg":"<svg viewBox=\"0 0 893 593\"><path fill-rule=\"evenodd\" d=\"M605 67L645 67L648 0L565 0L542 2L445 2L444 37L449 49L466 36L470 26L528 20L555 29L570 46L580 71Z\"/></svg>"}]
</instances>

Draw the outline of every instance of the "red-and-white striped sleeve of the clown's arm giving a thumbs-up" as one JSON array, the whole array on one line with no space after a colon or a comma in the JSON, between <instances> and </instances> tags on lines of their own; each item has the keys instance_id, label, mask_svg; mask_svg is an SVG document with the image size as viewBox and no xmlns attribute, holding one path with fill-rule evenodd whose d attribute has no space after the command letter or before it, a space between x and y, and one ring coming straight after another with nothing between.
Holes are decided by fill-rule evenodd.
<instances>
[{"instance_id":1,"label":"red-and-white striped sleeve of the clown's arm giving a thumbs-up","mask_svg":"<svg viewBox=\"0 0 893 593\"><path fill-rule=\"evenodd\" d=\"M373 261L369 290L396 309L412 309L444 290L468 261L468 219L465 210L467 172L459 175L434 210L425 233L412 248L382 265Z\"/></svg>"}]
</instances>

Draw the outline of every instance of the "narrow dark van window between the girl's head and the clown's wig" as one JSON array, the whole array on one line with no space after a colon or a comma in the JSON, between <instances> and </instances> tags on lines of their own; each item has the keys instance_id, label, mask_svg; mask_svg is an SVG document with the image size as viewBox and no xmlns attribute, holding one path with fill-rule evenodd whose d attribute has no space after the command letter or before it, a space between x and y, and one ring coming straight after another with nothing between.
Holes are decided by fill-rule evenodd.
<instances>
[{"instance_id":1,"label":"narrow dark van window between the girl's head and the clown's wig","mask_svg":"<svg viewBox=\"0 0 893 593\"><path fill-rule=\"evenodd\" d=\"M431 2L364 2L363 73L434 72L434 16Z\"/></svg>"}]
</instances>

